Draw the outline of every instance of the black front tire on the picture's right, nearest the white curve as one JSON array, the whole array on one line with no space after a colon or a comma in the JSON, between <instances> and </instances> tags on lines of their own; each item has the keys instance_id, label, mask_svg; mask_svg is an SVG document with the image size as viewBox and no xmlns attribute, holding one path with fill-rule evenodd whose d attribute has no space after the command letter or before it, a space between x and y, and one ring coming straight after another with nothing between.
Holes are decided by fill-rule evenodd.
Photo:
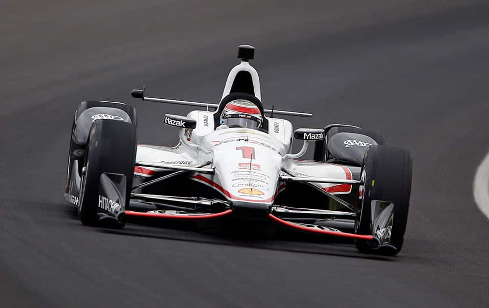
<instances>
[{"instance_id":1,"label":"black front tire on the picture's right, nearest the white curve","mask_svg":"<svg viewBox=\"0 0 489 308\"><path fill-rule=\"evenodd\" d=\"M365 152L360 178L363 179L362 197L358 198L360 218L356 221L356 233L372 235L371 201L383 200L394 203L394 221L391 245L396 249L372 249L367 242L356 240L360 252L396 255L404 242L413 163L408 150L387 145L373 145ZM360 186L360 192L362 186Z\"/></svg>"}]
</instances>

